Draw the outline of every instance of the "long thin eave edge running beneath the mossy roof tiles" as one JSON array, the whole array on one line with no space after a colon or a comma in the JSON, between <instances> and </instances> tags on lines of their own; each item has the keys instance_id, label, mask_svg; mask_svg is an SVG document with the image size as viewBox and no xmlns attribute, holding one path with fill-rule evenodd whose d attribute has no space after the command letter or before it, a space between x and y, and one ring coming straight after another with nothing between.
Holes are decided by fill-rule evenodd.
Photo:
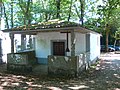
<instances>
[{"instance_id":1,"label":"long thin eave edge running beneath the mossy roof tiles","mask_svg":"<svg viewBox=\"0 0 120 90\"><path fill-rule=\"evenodd\" d=\"M89 29L86 29L84 27L80 27L80 26L75 26L75 27L61 27L61 28L43 28L43 29L6 29L6 30L2 30L3 32L8 32L8 33L13 33L13 34L37 34L40 32L66 32L66 31L71 31L71 30L75 30L76 32L80 32L80 33L97 33L94 31L91 31ZM98 33L97 33L98 34Z\"/></svg>"}]
</instances>

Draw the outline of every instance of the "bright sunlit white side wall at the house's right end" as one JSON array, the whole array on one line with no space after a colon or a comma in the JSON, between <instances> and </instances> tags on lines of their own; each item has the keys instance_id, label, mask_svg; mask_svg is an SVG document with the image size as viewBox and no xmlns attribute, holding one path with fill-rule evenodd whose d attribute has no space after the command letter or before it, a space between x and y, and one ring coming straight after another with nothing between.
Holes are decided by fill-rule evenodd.
<instances>
[{"instance_id":1,"label":"bright sunlit white side wall at the house's right end","mask_svg":"<svg viewBox=\"0 0 120 90\"><path fill-rule=\"evenodd\" d=\"M100 34L90 34L90 60L100 56Z\"/></svg>"}]
</instances>

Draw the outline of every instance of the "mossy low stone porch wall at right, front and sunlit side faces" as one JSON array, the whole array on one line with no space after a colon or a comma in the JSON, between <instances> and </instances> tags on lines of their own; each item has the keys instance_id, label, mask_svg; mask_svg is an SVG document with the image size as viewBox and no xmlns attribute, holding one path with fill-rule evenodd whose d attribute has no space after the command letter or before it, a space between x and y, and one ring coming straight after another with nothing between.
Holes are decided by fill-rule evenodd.
<instances>
[{"instance_id":1,"label":"mossy low stone porch wall at right, front and sunlit side faces","mask_svg":"<svg viewBox=\"0 0 120 90\"><path fill-rule=\"evenodd\" d=\"M48 56L49 75L78 76L89 67L89 53L79 56Z\"/></svg>"}]
</instances>

